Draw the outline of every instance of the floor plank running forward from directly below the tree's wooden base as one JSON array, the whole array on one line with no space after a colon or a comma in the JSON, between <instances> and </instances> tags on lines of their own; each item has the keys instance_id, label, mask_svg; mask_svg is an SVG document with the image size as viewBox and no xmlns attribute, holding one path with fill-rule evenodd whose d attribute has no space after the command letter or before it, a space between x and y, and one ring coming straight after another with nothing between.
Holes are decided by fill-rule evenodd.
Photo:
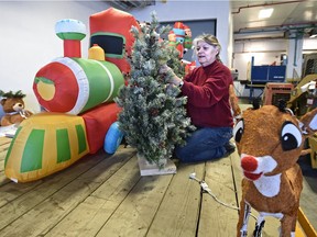
<instances>
[{"instance_id":1,"label":"floor plank running forward from directly below the tree's wooden base","mask_svg":"<svg viewBox=\"0 0 317 237\"><path fill-rule=\"evenodd\" d=\"M142 177L97 236L145 236L173 176Z\"/></svg>"}]
</instances>

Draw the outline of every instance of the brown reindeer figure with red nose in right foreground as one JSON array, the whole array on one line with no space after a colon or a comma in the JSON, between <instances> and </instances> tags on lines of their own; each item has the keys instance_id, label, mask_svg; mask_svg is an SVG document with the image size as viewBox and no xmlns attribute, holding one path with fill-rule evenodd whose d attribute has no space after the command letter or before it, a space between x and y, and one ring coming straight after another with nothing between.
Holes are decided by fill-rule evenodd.
<instances>
[{"instance_id":1,"label":"brown reindeer figure with red nose in right foreground","mask_svg":"<svg viewBox=\"0 0 317 237\"><path fill-rule=\"evenodd\" d=\"M243 112L233 133L243 170L237 236L247 236L251 208L259 212L253 236L265 216L281 221L280 236L295 236L303 176L297 159L305 137L317 129L317 109L297 120L289 109L264 105Z\"/></svg>"}]
</instances>

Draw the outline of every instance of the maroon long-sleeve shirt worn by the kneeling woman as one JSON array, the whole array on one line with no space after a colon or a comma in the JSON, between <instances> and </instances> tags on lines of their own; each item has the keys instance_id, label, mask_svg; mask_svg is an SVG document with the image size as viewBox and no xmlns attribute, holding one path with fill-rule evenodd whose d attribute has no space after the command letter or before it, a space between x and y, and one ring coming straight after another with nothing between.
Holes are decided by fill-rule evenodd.
<instances>
[{"instance_id":1,"label":"maroon long-sleeve shirt worn by the kneeling woman","mask_svg":"<svg viewBox=\"0 0 317 237\"><path fill-rule=\"evenodd\" d=\"M198 127L233 126L229 103L230 70L216 60L197 67L184 78L183 95L187 95L187 113Z\"/></svg>"}]
</instances>

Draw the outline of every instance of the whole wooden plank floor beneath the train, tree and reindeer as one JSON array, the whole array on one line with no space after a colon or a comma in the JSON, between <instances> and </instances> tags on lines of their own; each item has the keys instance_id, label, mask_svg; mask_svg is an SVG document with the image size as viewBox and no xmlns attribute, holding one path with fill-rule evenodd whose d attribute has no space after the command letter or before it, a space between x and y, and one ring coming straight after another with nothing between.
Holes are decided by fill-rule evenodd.
<instances>
[{"instance_id":1,"label":"whole wooden plank floor beneath the train, tree and reindeer","mask_svg":"<svg viewBox=\"0 0 317 237\"><path fill-rule=\"evenodd\" d=\"M201 193L189 174L205 180L221 202L237 206L237 151L196 165L175 161L176 174L141 177L135 150L120 146L113 156L101 149L42 180L14 183L3 173L9 144L10 138L0 137L0 236L236 236L238 211ZM305 202L316 204L316 192L304 193ZM253 227L250 218L250 236ZM278 236L277 227L276 219L266 219L263 236Z\"/></svg>"}]
</instances>

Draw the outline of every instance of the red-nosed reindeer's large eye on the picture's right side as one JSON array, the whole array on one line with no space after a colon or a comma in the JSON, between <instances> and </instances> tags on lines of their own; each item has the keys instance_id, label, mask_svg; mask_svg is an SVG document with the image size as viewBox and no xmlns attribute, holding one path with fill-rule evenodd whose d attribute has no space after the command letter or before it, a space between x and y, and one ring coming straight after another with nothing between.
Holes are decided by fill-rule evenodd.
<instances>
[{"instance_id":1,"label":"red-nosed reindeer's large eye on the picture's right side","mask_svg":"<svg viewBox=\"0 0 317 237\"><path fill-rule=\"evenodd\" d=\"M285 122L281 132L281 143L283 150L296 149L302 145L302 133L291 122Z\"/></svg>"}]
</instances>

